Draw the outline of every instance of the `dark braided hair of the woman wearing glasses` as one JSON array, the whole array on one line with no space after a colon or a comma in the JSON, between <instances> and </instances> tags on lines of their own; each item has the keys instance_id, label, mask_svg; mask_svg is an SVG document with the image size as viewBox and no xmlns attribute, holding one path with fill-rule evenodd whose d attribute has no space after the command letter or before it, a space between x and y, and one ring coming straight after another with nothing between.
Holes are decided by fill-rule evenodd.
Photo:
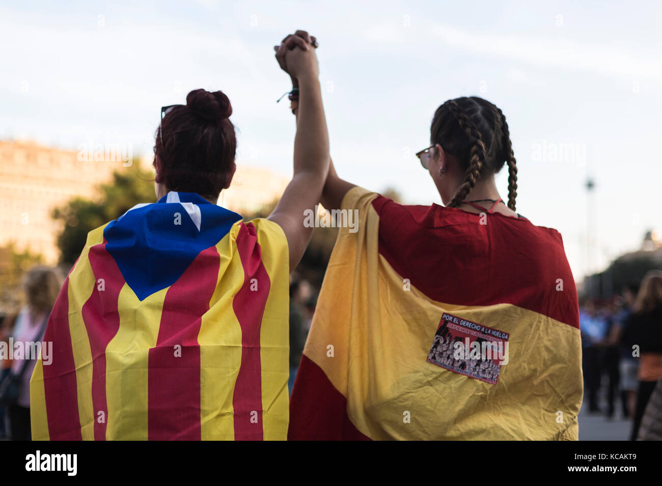
<instances>
[{"instance_id":1,"label":"dark braided hair of the woman wearing glasses","mask_svg":"<svg viewBox=\"0 0 662 486\"><path fill-rule=\"evenodd\" d=\"M437 108L430 127L432 142L455 155L465 171L448 206L457 208L481 177L498 173L508 163L508 208L515 210L517 167L503 112L479 97L448 100Z\"/></svg>"}]
</instances>

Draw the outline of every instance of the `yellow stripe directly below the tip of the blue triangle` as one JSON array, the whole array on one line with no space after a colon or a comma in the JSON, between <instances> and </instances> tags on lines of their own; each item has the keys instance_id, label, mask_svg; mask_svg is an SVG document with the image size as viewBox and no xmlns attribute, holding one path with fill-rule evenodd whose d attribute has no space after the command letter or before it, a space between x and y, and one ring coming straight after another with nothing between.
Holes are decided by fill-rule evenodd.
<instances>
[{"instance_id":1,"label":"yellow stripe directly below the tip of the blue triangle","mask_svg":"<svg viewBox=\"0 0 662 486\"><path fill-rule=\"evenodd\" d=\"M107 440L148 438L148 356L168 288L142 302L127 284L120 290L120 326L106 348Z\"/></svg>"}]
</instances>

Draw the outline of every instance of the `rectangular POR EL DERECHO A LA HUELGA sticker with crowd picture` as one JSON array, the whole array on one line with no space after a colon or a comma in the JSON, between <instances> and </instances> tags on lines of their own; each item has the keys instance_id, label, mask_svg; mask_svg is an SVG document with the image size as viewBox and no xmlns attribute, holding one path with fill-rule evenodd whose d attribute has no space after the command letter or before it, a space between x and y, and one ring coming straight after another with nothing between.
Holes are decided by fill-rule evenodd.
<instances>
[{"instance_id":1,"label":"rectangular POR EL DERECHO A LA HUELGA sticker with crowd picture","mask_svg":"<svg viewBox=\"0 0 662 486\"><path fill-rule=\"evenodd\" d=\"M508 362L508 333L444 313L428 363L489 384L496 384Z\"/></svg>"}]
</instances>

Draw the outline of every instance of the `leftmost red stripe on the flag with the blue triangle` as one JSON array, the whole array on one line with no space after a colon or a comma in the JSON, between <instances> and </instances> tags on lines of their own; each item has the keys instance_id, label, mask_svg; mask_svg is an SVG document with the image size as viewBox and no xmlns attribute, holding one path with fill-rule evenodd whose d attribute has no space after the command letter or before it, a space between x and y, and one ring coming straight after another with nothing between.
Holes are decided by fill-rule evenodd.
<instances>
[{"instance_id":1,"label":"leftmost red stripe on the flag with the blue triangle","mask_svg":"<svg viewBox=\"0 0 662 486\"><path fill-rule=\"evenodd\" d=\"M52 343L52 362L44 364L44 393L50 440L83 440L78 415L76 366L69 332L69 277L48 319L44 343Z\"/></svg>"}]
</instances>

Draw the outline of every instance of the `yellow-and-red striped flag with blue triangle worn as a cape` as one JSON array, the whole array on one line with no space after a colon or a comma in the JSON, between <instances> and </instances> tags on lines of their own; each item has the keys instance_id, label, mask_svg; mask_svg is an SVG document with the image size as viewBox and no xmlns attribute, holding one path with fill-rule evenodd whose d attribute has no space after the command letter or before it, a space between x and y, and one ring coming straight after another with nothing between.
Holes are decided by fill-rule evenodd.
<instances>
[{"instance_id":1,"label":"yellow-and-red striped flag with blue triangle worn as a cape","mask_svg":"<svg viewBox=\"0 0 662 486\"><path fill-rule=\"evenodd\" d=\"M285 233L169 192L91 231L30 382L35 440L283 440Z\"/></svg>"}]
</instances>

